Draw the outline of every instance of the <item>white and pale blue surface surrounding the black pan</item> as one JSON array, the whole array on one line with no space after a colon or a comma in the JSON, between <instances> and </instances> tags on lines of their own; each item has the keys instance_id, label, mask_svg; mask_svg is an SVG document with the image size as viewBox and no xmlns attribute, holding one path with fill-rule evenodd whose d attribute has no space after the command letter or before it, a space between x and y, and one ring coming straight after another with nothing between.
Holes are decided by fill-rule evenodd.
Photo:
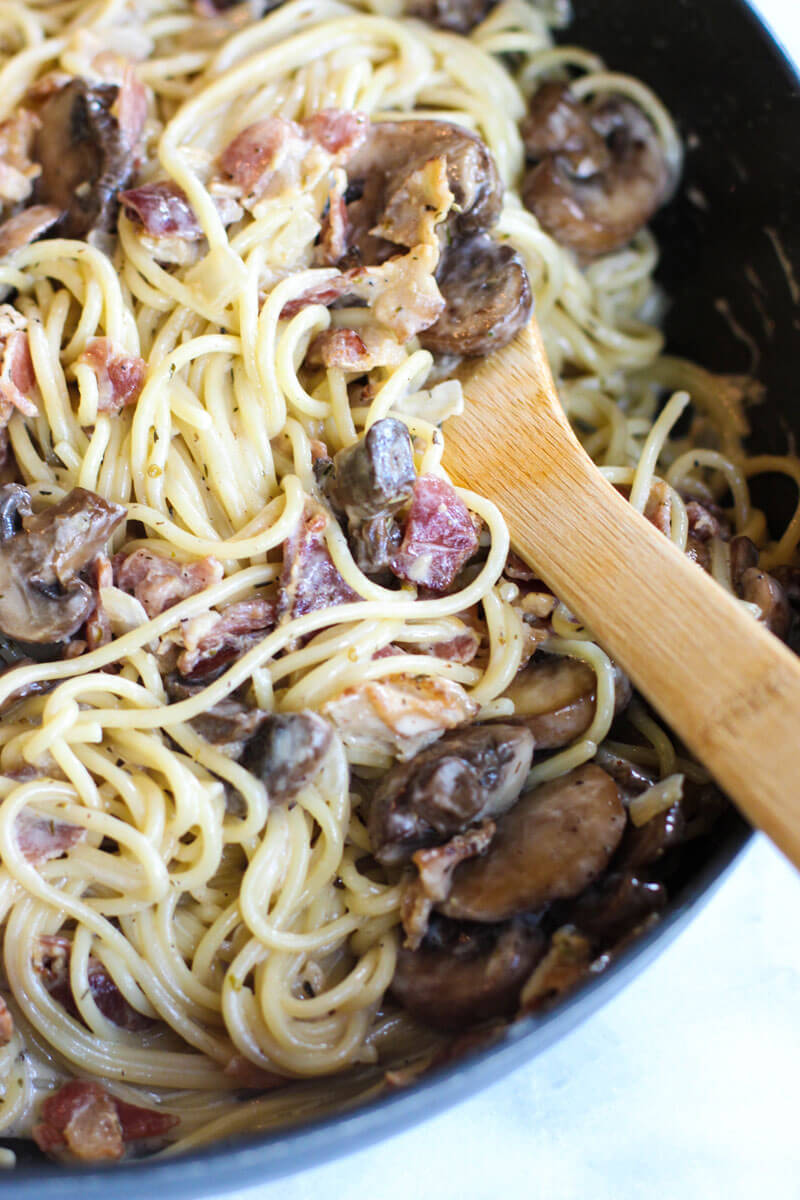
<instances>
[{"instance_id":1,"label":"white and pale blue surface surrounding the black pan","mask_svg":"<svg viewBox=\"0 0 800 1200\"><path fill-rule=\"evenodd\" d=\"M800 0L754 7L800 61ZM678 941L541 1057L235 1200L799 1200L799 928L800 880L759 838Z\"/></svg>"}]
</instances>

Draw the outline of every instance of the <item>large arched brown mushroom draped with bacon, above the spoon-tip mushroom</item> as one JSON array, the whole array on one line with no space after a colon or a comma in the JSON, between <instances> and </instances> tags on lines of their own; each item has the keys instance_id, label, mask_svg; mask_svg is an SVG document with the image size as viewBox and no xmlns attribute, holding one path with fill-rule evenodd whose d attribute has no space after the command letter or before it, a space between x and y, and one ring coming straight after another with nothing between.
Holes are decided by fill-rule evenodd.
<instances>
[{"instance_id":1,"label":"large arched brown mushroom draped with bacon, above the spoon-tip mushroom","mask_svg":"<svg viewBox=\"0 0 800 1200\"><path fill-rule=\"evenodd\" d=\"M426 208L419 173L437 160L444 160L446 185L453 197L443 232L469 236L497 223L503 182L494 158L476 133L447 121L380 121L347 163L350 246L360 262L372 262L373 251L380 253L375 235L384 246L391 242L410 247L419 242L420 217ZM369 230L374 234L368 245L365 235Z\"/></svg>"}]
</instances>

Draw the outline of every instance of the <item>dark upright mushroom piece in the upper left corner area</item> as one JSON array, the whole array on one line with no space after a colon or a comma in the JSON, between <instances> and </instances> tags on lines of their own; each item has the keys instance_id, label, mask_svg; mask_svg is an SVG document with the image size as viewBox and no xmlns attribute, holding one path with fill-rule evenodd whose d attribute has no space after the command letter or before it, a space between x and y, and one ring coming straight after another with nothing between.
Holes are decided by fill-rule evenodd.
<instances>
[{"instance_id":1,"label":"dark upright mushroom piece in the upper left corner area","mask_svg":"<svg viewBox=\"0 0 800 1200\"><path fill-rule=\"evenodd\" d=\"M130 88L76 78L40 107L34 156L42 174L35 196L64 212L58 229L65 238L85 238L113 221L145 116L144 100L139 104L136 95L128 102Z\"/></svg>"}]
</instances>

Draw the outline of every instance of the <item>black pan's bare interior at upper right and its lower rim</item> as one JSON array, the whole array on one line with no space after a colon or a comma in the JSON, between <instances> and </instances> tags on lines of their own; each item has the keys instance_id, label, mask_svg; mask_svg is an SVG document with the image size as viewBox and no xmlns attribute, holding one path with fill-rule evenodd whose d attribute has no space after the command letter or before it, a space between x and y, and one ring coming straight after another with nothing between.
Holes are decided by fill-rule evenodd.
<instances>
[{"instance_id":1,"label":"black pan's bare interior at upper right and its lower rim","mask_svg":"<svg viewBox=\"0 0 800 1200\"><path fill-rule=\"evenodd\" d=\"M783 452L800 434L800 83L742 0L573 0L564 40L642 77L687 142L680 193L660 215L660 280L672 306L669 348L714 370L756 370L768 398L752 412L753 446ZM721 304L722 301L722 304ZM733 320L730 319L733 317ZM780 526L795 497L783 480L757 490ZM173 1200L276 1178L355 1150L432 1115L540 1052L642 970L747 836L735 815L687 860L662 923L554 1013L415 1088L301 1129L211 1147L184 1159L106 1170L22 1165L0 1176L14 1200L106 1200L163 1188Z\"/></svg>"}]
</instances>

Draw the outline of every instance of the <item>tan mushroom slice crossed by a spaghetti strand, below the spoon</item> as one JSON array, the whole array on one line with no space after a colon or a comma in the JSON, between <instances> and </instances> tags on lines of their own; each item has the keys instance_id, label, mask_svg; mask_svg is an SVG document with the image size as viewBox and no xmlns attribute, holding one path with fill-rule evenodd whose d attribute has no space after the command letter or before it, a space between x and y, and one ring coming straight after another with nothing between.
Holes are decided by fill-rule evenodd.
<instances>
[{"instance_id":1,"label":"tan mushroom slice crossed by a spaghetti strand, below the spoon","mask_svg":"<svg viewBox=\"0 0 800 1200\"><path fill-rule=\"evenodd\" d=\"M524 722L537 750L558 750L585 733L595 718L595 672L578 659L537 656L506 689L515 704L515 720ZM631 700L631 683L614 672L614 712Z\"/></svg>"}]
</instances>

